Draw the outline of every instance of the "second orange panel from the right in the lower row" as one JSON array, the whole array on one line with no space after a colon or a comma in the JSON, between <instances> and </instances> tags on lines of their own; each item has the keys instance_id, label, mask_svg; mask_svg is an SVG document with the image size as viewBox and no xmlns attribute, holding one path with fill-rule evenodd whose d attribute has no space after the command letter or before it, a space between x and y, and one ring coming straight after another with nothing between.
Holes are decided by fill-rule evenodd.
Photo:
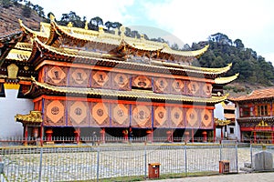
<instances>
[{"instance_id":1,"label":"second orange panel from the right in the lower row","mask_svg":"<svg viewBox=\"0 0 274 182\"><path fill-rule=\"evenodd\" d=\"M185 121L187 128L198 128L200 126L199 122L199 111L195 108L186 108L185 111Z\"/></svg>"}]
</instances>

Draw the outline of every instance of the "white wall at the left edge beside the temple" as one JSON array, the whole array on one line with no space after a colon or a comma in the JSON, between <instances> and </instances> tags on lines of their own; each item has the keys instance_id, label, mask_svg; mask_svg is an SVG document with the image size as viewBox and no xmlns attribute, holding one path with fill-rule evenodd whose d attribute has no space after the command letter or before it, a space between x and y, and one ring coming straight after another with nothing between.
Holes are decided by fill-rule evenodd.
<instances>
[{"instance_id":1,"label":"white wall at the left edge beside the temple","mask_svg":"<svg viewBox=\"0 0 274 182\"><path fill-rule=\"evenodd\" d=\"M16 114L26 115L34 109L32 99L17 98L17 89L5 89L0 97L0 137L23 136L22 123L16 122Z\"/></svg>"}]
</instances>

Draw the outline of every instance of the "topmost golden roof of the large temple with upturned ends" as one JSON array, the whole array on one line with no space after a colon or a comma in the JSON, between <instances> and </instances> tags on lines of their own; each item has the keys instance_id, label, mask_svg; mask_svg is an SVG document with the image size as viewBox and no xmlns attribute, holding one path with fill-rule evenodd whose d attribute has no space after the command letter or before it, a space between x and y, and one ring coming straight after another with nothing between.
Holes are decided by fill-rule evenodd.
<instances>
[{"instance_id":1,"label":"topmost golden roof of the large temple with upturned ends","mask_svg":"<svg viewBox=\"0 0 274 182\"><path fill-rule=\"evenodd\" d=\"M204 48L195 51L178 51L173 50L166 43L160 43L155 41L146 40L144 38L132 38L129 36L125 36L124 33L121 32L121 35L113 35L110 33L105 33L103 29L100 31L87 30L85 28L72 27L72 26L63 26L58 25L54 20L51 21L51 24L41 23L40 32L33 31L26 27L19 20L21 27L26 30L27 33L31 35L37 35L41 37L47 37L47 41L52 40L54 34L58 35L66 35L71 39L79 39L86 42L95 42L109 45L121 45L121 42L125 42L132 47L145 50L145 51L156 51L161 50L161 53L166 53L174 56L200 56L205 53L209 45L205 45Z\"/></svg>"}]
</instances>

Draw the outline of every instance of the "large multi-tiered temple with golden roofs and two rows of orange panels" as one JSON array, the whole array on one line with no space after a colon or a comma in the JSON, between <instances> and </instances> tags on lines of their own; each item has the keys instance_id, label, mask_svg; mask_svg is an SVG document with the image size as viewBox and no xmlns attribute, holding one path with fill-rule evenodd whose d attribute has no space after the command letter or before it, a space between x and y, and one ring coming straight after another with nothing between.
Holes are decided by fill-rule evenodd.
<instances>
[{"instance_id":1,"label":"large multi-tiered temple with golden roofs and two rows of orange panels","mask_svg":"<svg viewBox=\"0 0 274 182\"><path fill-rule=\"evenodd\" d=\"M5 126L14 126L16 117L25 137L40 138L93 131L101 140L130 132L150 140L215 135L215 104L227 99L222 86L237 75L222 77L231 64L191 66L208 45L176 51L128 37L124 26L110 34L58 25L54 18L40 31L19 23L20 31L0 37L2 108L8 89L16 92L16 114L1 118Z\"/></svg>"}]
</instances>

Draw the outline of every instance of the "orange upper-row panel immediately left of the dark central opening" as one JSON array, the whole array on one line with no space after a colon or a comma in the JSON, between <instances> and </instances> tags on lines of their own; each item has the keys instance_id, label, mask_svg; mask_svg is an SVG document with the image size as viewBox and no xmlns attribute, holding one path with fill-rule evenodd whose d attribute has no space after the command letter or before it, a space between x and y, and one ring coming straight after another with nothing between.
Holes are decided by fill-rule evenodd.
<instances>
[{"instance_id":1,"label":"orange upper-row panel immediately left of the dark central opening","mask_svg":"<svg viewBox=\"0 0 274 182\"><path fill-rule=\"evenodd\" d=\"M119 90L130 90L130 76L127 74L111 73L112 88Z\"/></svg>"}]
</instances>

